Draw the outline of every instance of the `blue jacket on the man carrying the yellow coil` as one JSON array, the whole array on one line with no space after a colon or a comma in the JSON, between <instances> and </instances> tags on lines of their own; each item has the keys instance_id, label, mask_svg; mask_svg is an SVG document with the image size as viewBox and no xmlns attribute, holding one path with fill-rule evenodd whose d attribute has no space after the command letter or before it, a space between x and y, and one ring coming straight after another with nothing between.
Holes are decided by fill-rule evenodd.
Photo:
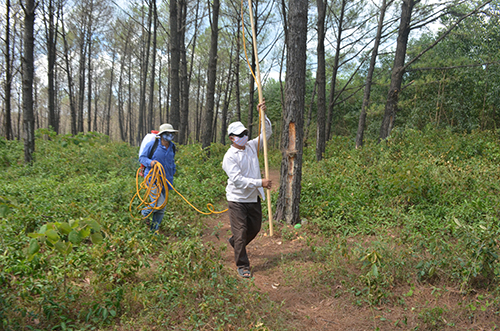
<instances>
[{"instance_id":1,"label":"blue jacket on the man carrying the yellow coil","mask_svg":"<svg viewBox=\"0 0 500 331\"><path fill-rule=\"evenodd\" d=\"M161 139L161 138L158 138L158 139ZM175 175L175 171L176 171L175 159L174 159L175 158L175 153L174 153L174 149L175 149L174 146L175 145L174 145L174 143L171 141L170 145L168 146L168 149L167 149L167 148L165 148L165 146L163 146L161 144L161 141L159 141L158 146L156 147L156 150L150 159L150 158L148 158L148 155L149 155L149 152L151 151L151 148L153 147L153 144L154 144L154 140L150 141L146 145L146 147L144 147L142 154L139 156L139 162L146 167L146 169L144 169L144 177L146 177L149 174L149 171L151 170L151 162L153 160L155 160L155 161L160 162L161 165L163 166L163 168L165 169L165 176L166 176L167 180L170 183L174 184L174 175ZM168 185L168 189L171 190L172 187L170 185Z\"/></svg>"}]
</instances>

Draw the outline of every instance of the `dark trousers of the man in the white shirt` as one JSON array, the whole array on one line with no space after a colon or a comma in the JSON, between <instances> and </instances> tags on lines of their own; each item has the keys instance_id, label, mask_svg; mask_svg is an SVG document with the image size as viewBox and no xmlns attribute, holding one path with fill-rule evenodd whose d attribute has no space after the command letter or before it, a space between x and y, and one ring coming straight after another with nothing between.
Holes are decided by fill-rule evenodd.
<instances>
[{"instance_id":1,"label":"dark trousers of the man in the white shirt","mask_svg":"<svg viewBox=\"0 0 500 331\"><path fill-rule=\"evenodd\" d=\"M228 201L229 221L233 236L229 239L234 248L234 260L238 268L249 268L246 246L257 236L262 225L260 197L257 202Z\"/></svg>"}]
</instances>

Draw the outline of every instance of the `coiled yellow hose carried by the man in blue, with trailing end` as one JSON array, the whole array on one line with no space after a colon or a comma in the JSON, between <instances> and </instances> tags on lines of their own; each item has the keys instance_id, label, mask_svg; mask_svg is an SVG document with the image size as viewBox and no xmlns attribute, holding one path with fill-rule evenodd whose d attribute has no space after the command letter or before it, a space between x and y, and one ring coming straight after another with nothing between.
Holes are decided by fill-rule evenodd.
<instances>
[{"instance_id":1,"label":"coiled yellow hose carried by the man in blue, with trailing end","mask_svg":"<svg viewBox=\"0 0 500 331\"><path fill-rule=\"evenodd\" d=\"M194 210L196 210L198 213L203 214L203 215L210 215L210 214L222 214L227 211L227 209L222 210L222 211L215 211L214 210L214 205L211 203L207 203L207 209L208 213L202 212L198 208L196 208L191 202L189 202L182 194L179 193L175 189L175 187L170 183L165 176L165 169L161 165L160 162L156 162L151 169L151 171L148 173L148 175L144 178L142 183L139 185L139 171L140 169L137 170L135 174L135 186L136 186L136 192L132 199L130 200L130 205L129 205L129 212L132 217L132 204L135 200L135 198L139 198L141 203L136 207L137 210L143 211L147 209L151 209L150 213L146 216L144 216L142 219L146 219L151 215L151 213L155 210L161 210L167 205L168 201L168 189L165 189L165 201L161 206L157 206L158 199L160 198L162 189L167 187L167 184L170 184L172 189L177 193L184 201L187 202L188 205L190 205ZM148 182L150 183L148 185ZM141 195L141 191L144 191L144 194Z\"/></svg>"}]
</instances>

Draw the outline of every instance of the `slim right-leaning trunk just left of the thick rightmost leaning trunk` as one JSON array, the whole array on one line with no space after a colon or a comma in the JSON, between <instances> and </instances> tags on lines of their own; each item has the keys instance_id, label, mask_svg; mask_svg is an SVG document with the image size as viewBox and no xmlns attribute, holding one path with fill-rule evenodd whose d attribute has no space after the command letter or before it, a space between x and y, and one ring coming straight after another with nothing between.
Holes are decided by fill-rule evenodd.
<instances>
[{"instance_id":1,"label":"slim right-leaning trunk just left of the thick rightmost leaning trunk","mask_svg":"<svg viewBox=\"0 0 500 331\"><path fill-rule=\"evenodd\" d=\"M370 59L370 68L368 69L368 75L366 76L365 92L363 95L363 105L361 106L361 114L359 115L358 122L358 132L356 134L356 148L363 146L363 136L366 126L366 112L368 105L370 104L370 93L372 87L373 72L375 71L375 63L378 56L378 47L380 45L380 39L382 38L382 29L384 27L384 17L387 7L392 3L389 1L387 4L386 0L382 1L382 7L380 8L380 16L378 19L377 35L375 37L375 43L373 45L372 57Z\"/></svg>"}]
</instances>

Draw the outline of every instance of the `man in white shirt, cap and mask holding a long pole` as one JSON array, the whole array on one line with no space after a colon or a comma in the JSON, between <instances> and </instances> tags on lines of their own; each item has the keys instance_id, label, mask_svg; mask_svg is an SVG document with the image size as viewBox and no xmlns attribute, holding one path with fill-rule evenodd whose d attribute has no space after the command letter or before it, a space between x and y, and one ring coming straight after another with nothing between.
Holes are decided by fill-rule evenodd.
<instances>
[{"instance_id":1,"label":"man in white shirt, cap and mask holding a long pole","mask_svg":"<svg viewBox=\"0 0 500 331\"><path fill-rule=\"evenodd\" d=\"M265 113L265 102L257 107ZM266 138L268 138L272 134L271 121L267 116L265 119ZM262 224L260 199L261 197L265 199L263 188L271 188L272 182L269 179L261 179L257 151L263 146L262 133L260 137L248 141L248 130L241 122L231 123L227 133L232 145L224 155L222 169L228 176L226 198L233 234L229 238L229 243L234 248L238 274L243 278L249 278L250 261L246 246L260 231Z\"/></svg>"}]
</instances>

